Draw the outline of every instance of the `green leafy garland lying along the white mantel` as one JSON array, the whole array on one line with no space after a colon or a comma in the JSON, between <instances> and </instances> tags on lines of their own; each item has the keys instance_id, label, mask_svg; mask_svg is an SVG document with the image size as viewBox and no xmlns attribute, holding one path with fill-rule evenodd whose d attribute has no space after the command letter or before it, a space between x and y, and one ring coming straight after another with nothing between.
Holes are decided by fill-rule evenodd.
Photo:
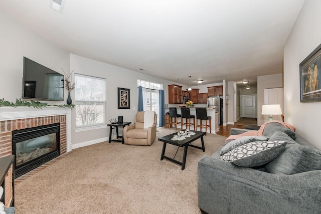
<instances>
[{"instance_id":1,"label":"green leafy garland lying along the white mantel","mask_svg":"<svg viewBox=\"0 0 321 214\"><path fill-rule=\"evenodd\" d=\"M70 104L70 105L48 105L48 103L42 103L39 101L23 101L22 99L16 99L16 103L6 101L5 98L0 99L0 107L20 107L20 106L25 106L25 107L34 107L34 108L43 108L43 107L49 107L49 106L54 106L54 107L62 107L62 108L73 108L75 107L75 104Z\"/></svg>"}]
</instances>

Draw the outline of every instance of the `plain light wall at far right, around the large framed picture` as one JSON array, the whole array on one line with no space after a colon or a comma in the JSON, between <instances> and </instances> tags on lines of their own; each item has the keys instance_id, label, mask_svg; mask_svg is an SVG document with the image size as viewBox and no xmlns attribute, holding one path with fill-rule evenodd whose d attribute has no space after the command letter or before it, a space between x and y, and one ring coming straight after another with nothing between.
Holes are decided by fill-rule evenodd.
<instances>
[{"instance_id":1,"label":"plain light wall at far right, around the large framed picture","mask_svg":"<svg viewBox=\"0 0 321 214\"><path fill-rule=\"evenodd\" d=\"M284 119L321 148L321 102L300 103L299 64L321 43L321 1L306 0L284 45Z\"/></svg>"}]
</instances>

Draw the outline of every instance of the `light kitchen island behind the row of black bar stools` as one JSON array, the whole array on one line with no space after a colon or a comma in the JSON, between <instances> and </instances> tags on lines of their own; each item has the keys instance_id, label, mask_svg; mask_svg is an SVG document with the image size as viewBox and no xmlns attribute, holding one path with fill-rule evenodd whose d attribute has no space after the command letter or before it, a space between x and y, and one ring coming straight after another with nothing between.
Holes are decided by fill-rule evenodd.
<instances>
[{"instance_id":1,"label":"light kitchen island behind the row of black bar stools","mask_svg":"<svg viewBox=\"0 0 321 214\"><path fill-rule=\"evenodd\" d=\"M195 107L190 107L190 112L191 112L191 115L195 115L195 126L196 126L196 108ZM166 112L170 111L169 108L165 108ZM211 116L212 119L211 119L211 127L212 127L212 133L213 134L216 134L216 132L219 131L219 127L218 127L218 123L215 123L215 120L217 119L215 117L215 114L216 114L216 107L208 107L206 108L207 110L207 116ZM180 107L177 107L177 113L178 114L181 114L181 108ZM181 118L182 119L182 118ZM180 119L179 119L180 120ZM185 121L185 118L184 118L184 121ZM192 120L191 120L192 121ZM205 121L203 121L203 123L205 123ZM178 129L181 129L181 124L178 124L177 125L177 128ZM184 126L185 128L185 126ZM191 130L194 130L194 127L191 126ZM201 131L201 129L198 127L198 129L196 131ZM205 128L202 128L202 131L205 132ZM210 133L210 129L208 128L207 129L207 132Z\"/></svg>"}]
</instances>

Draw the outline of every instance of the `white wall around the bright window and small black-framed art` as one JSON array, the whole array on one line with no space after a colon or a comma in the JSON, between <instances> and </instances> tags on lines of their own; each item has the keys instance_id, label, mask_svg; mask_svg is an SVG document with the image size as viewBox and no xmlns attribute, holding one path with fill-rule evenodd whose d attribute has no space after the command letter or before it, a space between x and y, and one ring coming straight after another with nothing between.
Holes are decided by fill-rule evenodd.
<instances>
[{"instance_id":1,"label":"white wall around the bright window and small black-framed art","mask_svg":"<svg viewBox=\"0 0 321 214\"><path fill-rule=\"evenodd\" d=\"M123 116L124 121L134 122L137 113L137 79L164 85L165 103L168 104L168 85L178 84L171 81L159 79L135 71L127 70L110 64L70 55L70 70L75 73L90 75L106 79L106 122L111 118ZM130 89L130 109L118 109L117 107L117 88ZM74 91L72 91L74 100ZM75 109L72 110L72 143L90 144L86 142L101 142L109 136L109 127L89 131L75 131ZM76 146L78 147L78 146Z\"/></svg>"}]
</instances>

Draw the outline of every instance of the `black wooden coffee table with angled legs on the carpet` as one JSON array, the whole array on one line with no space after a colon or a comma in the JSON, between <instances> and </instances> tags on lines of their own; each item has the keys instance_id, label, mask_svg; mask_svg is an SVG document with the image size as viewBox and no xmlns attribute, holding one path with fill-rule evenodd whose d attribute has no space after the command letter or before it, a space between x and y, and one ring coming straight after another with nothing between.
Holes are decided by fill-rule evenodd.
<instances>
[{"instance_id":1,"label":"black wooden coffee table with angled legs on the carpet","mask_svg":"<svg viewBox=\"0 0 321 214\"><path fill-rule=\"evenodd\" d=\"M205 152L205 146L204 146L204 140L203 140L203 136L206 134L205 132L201 132L201 131L192 131L195 132L195 135L192 135L191 137L186 138L185 140L172 140L174 135L177 135L177 132L175 132L174 134L170 134L170 135L166 135L164 137L160 137L158 138L159 141L163 141L163 150L162 150L162 156L161 156L161 160L168 159L170 161L173 161L177 164L182 165L182 170L185 169L185 163L186 163L186 155L187 155L187 148L188 146L194 147L194 148L198 148L198 149L202 149L203 152ZM190 144L191 142L197 140L201 138L202 141L202 147L200 146L195 146ZM165 156L165 150L166 150L166 144L170 143L179 147L183 147L184 146L184 154L183 154L183 162L180 162L178 160L175 160L173 158L170 158L168 156Z\"/></svg>"}]
</instances>

